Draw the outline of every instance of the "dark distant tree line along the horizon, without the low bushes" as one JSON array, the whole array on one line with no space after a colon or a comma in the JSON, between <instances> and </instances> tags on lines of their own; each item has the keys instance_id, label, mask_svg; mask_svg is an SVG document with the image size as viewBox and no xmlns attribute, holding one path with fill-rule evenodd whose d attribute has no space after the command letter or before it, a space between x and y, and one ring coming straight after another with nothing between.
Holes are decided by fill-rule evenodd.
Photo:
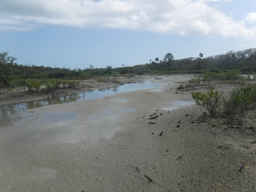
<instances>
[{"instance_id":1,"label":"dark distant tree line along the horizon, without the low bushes","mask_svg":"<svg viewBox=\"0 0 256 192\"><path fill-rule=\"evenodd\" d=\"M256 71L256 48L244 51L229 51L225 54L203 58L203 53L198 57L174 59L171 53L164 55L163 60L155 58L150 63L132 67L94 68L90 65L86 69L52 68L35 65L18 65L15 57L9 56L9 52L0 52L0 87L9 86L13 79L85 79L97 76L117 76L122 74L150 74L150 73L203 73L210 70L218 73L219 70L237 69L243 73ZM182 72L183 73L183 72Z\"/></svg>"}]
</instances>

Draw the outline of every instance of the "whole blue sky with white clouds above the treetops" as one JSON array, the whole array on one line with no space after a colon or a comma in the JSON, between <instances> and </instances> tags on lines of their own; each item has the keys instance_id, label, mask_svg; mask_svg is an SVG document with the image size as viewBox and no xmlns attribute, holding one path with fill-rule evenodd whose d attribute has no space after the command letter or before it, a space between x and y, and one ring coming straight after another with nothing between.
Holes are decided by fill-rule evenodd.
<instances>
[{"instance_id":1,"label":"whole blue sky with white clouds above the treetops","mask_svg":"<svg viewBox=\"0 0 256 192\"><path fill-rule=\"evenodd\" d=\"M112 68L256 47L255 0L1 0L19 65Z\"/></svg>"}]
</instances>

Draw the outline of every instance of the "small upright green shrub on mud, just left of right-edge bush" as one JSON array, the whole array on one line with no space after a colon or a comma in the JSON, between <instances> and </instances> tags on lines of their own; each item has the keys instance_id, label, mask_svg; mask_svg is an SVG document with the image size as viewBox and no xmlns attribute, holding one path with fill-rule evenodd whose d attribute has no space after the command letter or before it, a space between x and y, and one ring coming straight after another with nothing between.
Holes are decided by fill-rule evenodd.
<instances>
[{"instance_id":1,"label":"small upright green shrub on mud, just left of right-edge bush","mask_svg":"<svg viewBox=\"0 0 256 192\"><path fill-rule=\"evenodd\" d=\"M192 97L196 100L197 105L204 107L211 117L217 115L217 109L220 107L220 98L222 93L213 91L214 86L207 93L193 92Z\"/></svg>"}]
</instances>

